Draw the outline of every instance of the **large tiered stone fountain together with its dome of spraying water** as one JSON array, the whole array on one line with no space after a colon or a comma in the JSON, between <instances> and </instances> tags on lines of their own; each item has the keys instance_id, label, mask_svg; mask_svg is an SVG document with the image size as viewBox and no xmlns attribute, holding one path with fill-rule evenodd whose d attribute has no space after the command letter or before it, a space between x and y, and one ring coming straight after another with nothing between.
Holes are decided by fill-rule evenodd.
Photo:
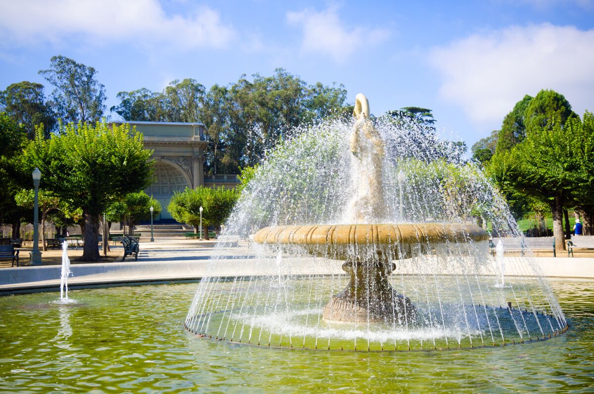
<instances>
[{"instance_id":1,"label":"large tiered stone fountain together with its dome of spraying water","mask_svg":"<svg viewBox=\"0 0 594 394\"><path fill-rule=\"evenodd\" d=\"M249 263L229 266L220 250L186 329L254 345L369 351L564 332L530 258L508 267L505 286L493 285L503 276L472 217L500 233L519 230L482 172L419 123L370 114L359 94L352 123L296 130L260 165L225 228L235 236L260 229L243 256Z\"/></svg>"}]
</instances>

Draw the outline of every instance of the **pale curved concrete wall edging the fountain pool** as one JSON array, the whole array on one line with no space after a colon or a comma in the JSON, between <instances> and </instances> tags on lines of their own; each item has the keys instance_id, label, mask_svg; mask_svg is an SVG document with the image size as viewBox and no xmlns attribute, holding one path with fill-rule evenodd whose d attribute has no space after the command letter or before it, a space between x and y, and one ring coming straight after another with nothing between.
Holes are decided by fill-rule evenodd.
<instances>
[{"instance_id":1,"label":"pale curved concrete wall edging the fountain pool","mask_svg":"<svg viewBox=\"0 0 594 394\"><path fill-rule=\"evenodd\" d=\"M522 273L514 273L514 262L520 259L527 259L527 257L505 257L507 276L525 276ZM545 277L594 279L594 258L536 257L531 259L538 264ZM213 274L209 267L213 262L213 260L174 260L74 264L71 265L73 276L68 280L68 286L71 289L80 289L108 285L197 281ZM267 271L266 267L258 265L251 259L223 259L217 260L216 263L218 269L214 274L220 277L274 273ZM342 274L341 263L330 261L330 264L320 264L312 261L311 264L303 264L299 272L292 271L292 274ZM59 265L2 268L0 295L59 290L60 270Z\"/></svg>"}]
</instances>

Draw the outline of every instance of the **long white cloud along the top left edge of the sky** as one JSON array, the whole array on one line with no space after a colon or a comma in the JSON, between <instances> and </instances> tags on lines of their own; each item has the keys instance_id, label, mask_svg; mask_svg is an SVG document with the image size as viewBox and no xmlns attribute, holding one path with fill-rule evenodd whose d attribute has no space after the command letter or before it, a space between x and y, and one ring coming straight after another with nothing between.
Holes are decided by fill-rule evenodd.
<instances>
[{"instance_id":1,"label":"long white cloud along the top left edge of the sky","mask_svg":"<svg viewBox=\"0 0 594 394\"><path fill-rule=\"evenodd\" d=\"M2 2L0 36L5 46L82 38L192 49L225 46L235 32L208 7L168 15L157 0L29 0Z\"/></svg>"}]
</instances>

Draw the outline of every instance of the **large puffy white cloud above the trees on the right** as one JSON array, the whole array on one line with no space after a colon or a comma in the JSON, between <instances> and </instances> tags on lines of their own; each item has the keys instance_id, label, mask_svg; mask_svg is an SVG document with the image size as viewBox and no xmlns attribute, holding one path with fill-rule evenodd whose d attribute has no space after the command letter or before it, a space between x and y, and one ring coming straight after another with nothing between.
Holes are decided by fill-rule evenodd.
<instances>
[{"instance_id":1,"label":"large puffy white cloud above the trees on the right","mask_svg":"<svg viewBox=\"0 0 594 394\"><path fill-rule=\"evenodd\" d=\"M472 35L430 52L441 95L476 122L503 119L525 94L554 89L594 110L594 30L541 24Z\"/></svg>"}]
</instances>

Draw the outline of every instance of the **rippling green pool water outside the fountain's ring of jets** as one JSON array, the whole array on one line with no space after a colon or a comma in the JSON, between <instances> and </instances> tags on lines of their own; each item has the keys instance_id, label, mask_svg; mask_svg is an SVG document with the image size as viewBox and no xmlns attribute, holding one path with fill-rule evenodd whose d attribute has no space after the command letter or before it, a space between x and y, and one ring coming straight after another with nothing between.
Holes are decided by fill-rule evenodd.
<instances>
[{"instance_id":1,"label":"rippling green pool water outside the fountain's ring of jets","mask_svg":"<svg viewBox=\"0 0 594 394\"><path fill-rule=\"evenodd\" d=\"M570 330L450 351L327 352L200 339L196 283L0 297L0 392L594 392L594 281L551 280Z\"/></svg>"}]
</instances>

